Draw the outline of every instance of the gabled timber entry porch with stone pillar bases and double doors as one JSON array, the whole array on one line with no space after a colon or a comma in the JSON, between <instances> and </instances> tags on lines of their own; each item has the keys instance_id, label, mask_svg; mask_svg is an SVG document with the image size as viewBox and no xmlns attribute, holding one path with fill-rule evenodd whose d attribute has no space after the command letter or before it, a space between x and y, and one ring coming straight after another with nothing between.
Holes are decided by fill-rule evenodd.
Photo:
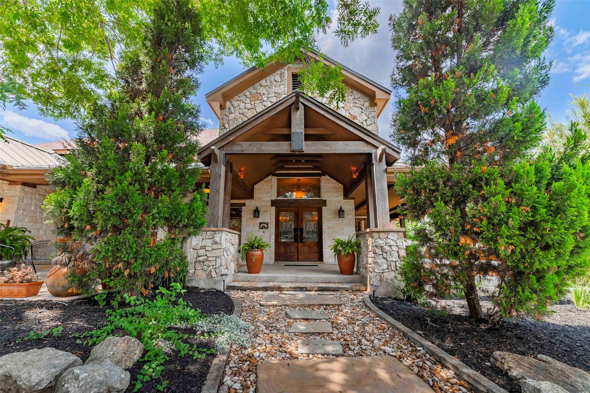
<instances>
[{"instance_id":1,"label":"gabled timber entry porch with stone pillar bases and double doors","mask_svg":"<svg viewBox=\"0 0 590 393\"><path fill-rule=\"evenodd\" d=\"M335 237L356 234L363 247L371 248L375 230L385 233L376 242L385 246L377 270L396 270L397 248L394 256L385 239L394 233L390 240L398 247L397 240L404 237L399 228L403 223L392 223L400 204L390 184L395 182L392 169L399 151L378 134L295 92L211 141L198 156L207 167L201 180L209 191L209 214L204 237L187 250L195 285L203 286L223 273L234 286L264 281L264 275L254 279L239 271L236 250L240 238L250 234L273 245L263 274L270 263L320 265L308 266L307 271L273 266L266 282L278 275L277 283L289 289L304 277L313 278L309 284L340 283L336 274L323 274L334 269L337 273L329 250ZM224 262L226 258L231 260ZM366 289L374 273L367 266L372 258L372 251L361 252L357 275L343 281Z\"/></svg>"}]
</instances>

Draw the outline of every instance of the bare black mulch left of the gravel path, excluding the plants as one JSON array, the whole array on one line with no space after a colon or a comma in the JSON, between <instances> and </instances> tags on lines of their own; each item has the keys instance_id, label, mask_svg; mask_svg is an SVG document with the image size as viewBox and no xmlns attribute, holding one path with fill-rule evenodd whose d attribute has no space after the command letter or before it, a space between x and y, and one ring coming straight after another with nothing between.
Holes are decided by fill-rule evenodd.
<instances>
[{"instance_id":1,"label":"bare black mulch left of the gravel path, excluding the plants","mask_svg":"<svg viewBox=\"0 0 590 393\"><path fill-rule=\"evenodd\" d=\"M191 288L183 296L196 309L208 314L234 312L234 303L223 292L214 289ZM82 361L90 355L91 347L78 344L74 333L88 332L100 328L106 321L106 310L101 308L92 299L80 300L73 303L60 303L50 300L32 302L28 300L2 300L0 301L0 356L12 352L28 351L51 346L60 351L71 352ZM16 342L25 338L29 332L40 332L46 329L63 326L62 335L54 338L48 335L47 339L27 340ZM183 329L183 333L196 332ZM189 344L197 344L201 348L213 348L211 340L189 339ZM216 354L209 354L204 359L193 360L187 355L183 358L171 357L166 362L161 378L168 382L166 392L200 392L202 384L207 378L211 362ZM143 363L137 362L129 369L131 383L127 392L132 392L135 387L136 375ZM143 384L141 392L156 392L156 386L160 380L149 381Z\"/></svg>"}]
</instances>

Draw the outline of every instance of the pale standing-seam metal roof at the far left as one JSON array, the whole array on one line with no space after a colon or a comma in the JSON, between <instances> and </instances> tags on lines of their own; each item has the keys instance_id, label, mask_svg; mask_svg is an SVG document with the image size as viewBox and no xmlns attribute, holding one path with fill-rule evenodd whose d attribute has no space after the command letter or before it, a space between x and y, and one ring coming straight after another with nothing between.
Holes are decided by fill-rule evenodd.
<instances>
[{"instance_id":1,"label":"pale standing-seam metal roof at the far left","mask_svg":"<svg viewBox=\"0 0 590 393\"><path fill-rule=\"evenodd\" d=\"M8 140L0 141L0 164L14 169L53 168L64 162L57 153L24 143L5 135Z\"/></svg>"}]
</instances>

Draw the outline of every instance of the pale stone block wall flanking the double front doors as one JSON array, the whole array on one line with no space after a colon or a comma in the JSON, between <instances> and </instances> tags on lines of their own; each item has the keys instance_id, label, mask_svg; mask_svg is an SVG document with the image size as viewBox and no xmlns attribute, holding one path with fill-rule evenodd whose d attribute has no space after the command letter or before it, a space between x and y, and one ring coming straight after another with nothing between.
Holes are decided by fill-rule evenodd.
<instances>
[{"instance_id":1,"label":"pale stone block wall flanking the double front doors","mask_svg":"<svg viewBox=\"0 0 590 393\"><path fill-rule=\"evenodd\" d=\"M264 263L274 263L275 208L270 204L271 199L276 199L276 196L277 178L269 176L254 186L254 199L232 200L245 203L242 207L242 239L246 239L252 233L273 245L268 254L264 254ZM329 247L335 237L346 238L354 235L355 202L352 199L343 199L342 184L327 176L322 176L322 199L326 199L326 206L322 207L323 262L336 263ZM255 219L253 212L257 206L260 209L260 218ZM345 210L343 219L338 218L340 206ZM260 229L258 224L261 222L267 222L268 229Z\"/></svg>"}]
</instances>

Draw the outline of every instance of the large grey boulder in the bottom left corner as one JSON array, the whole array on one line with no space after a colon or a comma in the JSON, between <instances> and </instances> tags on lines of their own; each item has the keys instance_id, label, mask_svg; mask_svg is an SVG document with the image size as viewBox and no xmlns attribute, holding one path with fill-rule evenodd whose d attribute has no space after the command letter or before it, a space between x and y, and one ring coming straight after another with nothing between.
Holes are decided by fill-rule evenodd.
<instances>
[{"instance_id":1,"label":"large grey boulder in the bottom left corner","mask_svg":"<svg viewBox=\"0 0 590 393\"><path fill-rule=\"evenodd\" d=\"M67 369L81 365L78 356L55 348L15 352L0 358L0 387L6 393L49 392Z\"/></svg>"}]
</instances>

